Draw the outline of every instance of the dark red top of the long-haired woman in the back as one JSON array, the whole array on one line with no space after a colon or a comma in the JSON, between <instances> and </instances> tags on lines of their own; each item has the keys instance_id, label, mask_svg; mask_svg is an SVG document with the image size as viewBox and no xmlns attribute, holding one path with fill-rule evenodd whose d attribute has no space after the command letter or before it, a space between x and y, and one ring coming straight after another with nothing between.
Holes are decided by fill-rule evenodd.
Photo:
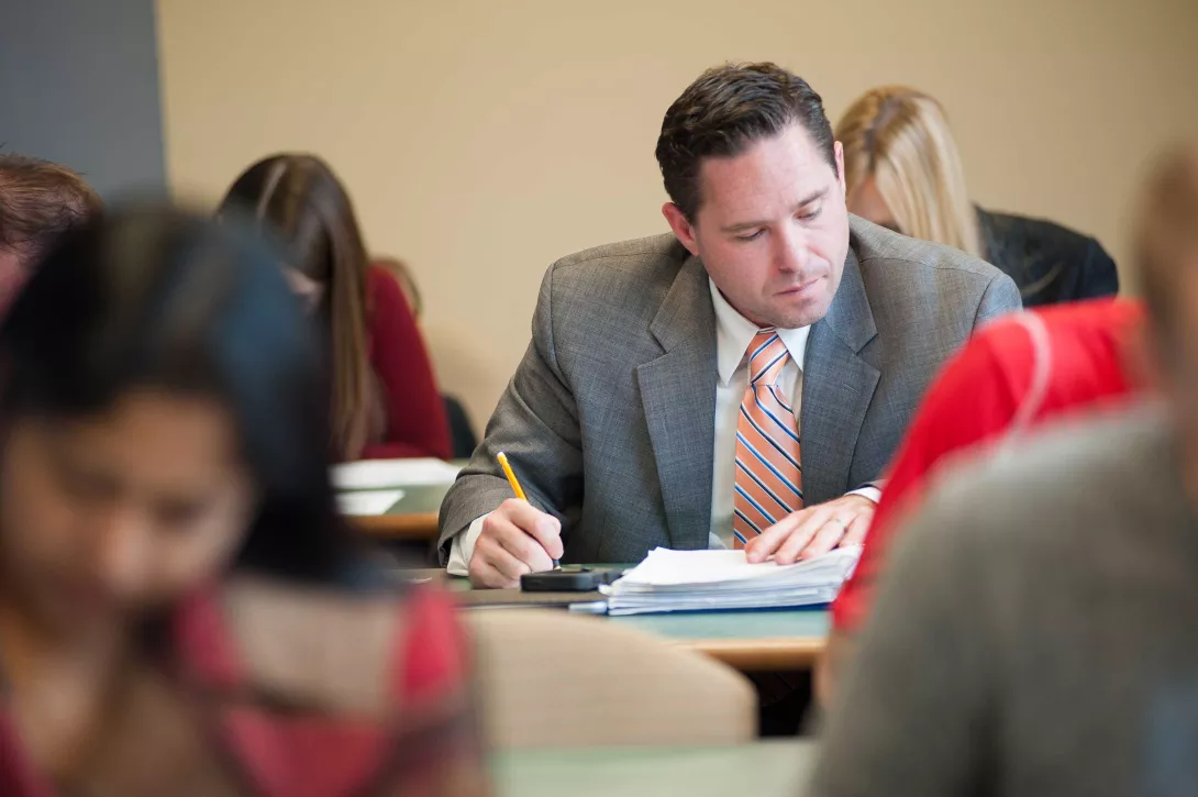
<instances>
[{"instance_id":1,"label":"dark red top of the long-haired woman in the back","mask_svg":"<svg viewBox=\"0 0 1198 797\"><path fill-rule=\"evenodd\" d=\"M395 278L375 266L367 268L367 313L370 367L382 387L387 431L363 449L362 459L449 459L449 422L416 318Z\"/></svg>"}]
</instances>

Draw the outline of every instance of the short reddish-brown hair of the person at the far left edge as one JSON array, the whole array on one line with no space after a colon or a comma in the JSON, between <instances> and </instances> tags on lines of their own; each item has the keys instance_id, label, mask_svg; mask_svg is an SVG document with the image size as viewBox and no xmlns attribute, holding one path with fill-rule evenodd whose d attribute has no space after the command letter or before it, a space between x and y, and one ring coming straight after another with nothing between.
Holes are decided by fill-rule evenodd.
<instances>
[{"instance_id":1,"label":"short reddish-brown hair of the person at the far left edge","mask_svg":"<svg viewBox=\"0 0 1198 797\"><path fill-rule=\"evenodd\" d=\"M0 153L0 252L29 264L99 209L96 192L67 167Z\"/></svg>"}]
</instances>

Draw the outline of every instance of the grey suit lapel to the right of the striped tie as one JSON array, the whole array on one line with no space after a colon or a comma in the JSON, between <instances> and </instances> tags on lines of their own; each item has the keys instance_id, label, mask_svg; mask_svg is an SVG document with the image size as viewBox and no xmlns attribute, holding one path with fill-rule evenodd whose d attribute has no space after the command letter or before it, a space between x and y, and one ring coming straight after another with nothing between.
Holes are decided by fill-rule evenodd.
<instances>
[{"instance_id":1,"label":"grey suit lapel to the right of the striped tie","mask_svg":"<svg viewBox=\"0 0 1198 797\"><path fill-rule=\"evenodd\" d=\"M881 376L860 351L877 333L851 248L828 315L811 327L804 355L800 436L809 506L857 487L848 484L853 452Z\"/></svg>"}]
</instances>

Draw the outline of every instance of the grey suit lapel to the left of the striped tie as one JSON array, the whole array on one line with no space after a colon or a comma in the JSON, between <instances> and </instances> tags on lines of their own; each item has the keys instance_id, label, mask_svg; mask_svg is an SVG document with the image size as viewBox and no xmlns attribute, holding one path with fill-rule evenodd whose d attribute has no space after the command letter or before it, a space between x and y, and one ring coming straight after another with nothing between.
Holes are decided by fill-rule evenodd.
<instances>
[{"instance_id":1,"label":"grey suit lapel to the left of the striped tie","mask_svg":"<svg viewBox=\"0 0 1198 797\"><path fill-rule=\"evenodd\" d=\"M678 271L649 332L665 354L636 368L645 422L677 549L707 548L715 445L715 310L697 258Z\"/></svg>"}]
</instances>

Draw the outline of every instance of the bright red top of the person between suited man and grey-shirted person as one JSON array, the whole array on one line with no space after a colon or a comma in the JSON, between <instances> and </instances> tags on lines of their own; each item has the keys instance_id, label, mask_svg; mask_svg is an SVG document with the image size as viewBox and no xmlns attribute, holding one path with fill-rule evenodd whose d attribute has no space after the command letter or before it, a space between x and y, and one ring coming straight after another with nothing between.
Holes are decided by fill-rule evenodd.
<instances>
[{"instance_id":1,"label":"bright red top of the person between suited man and grey-shirted person","mask_svg":"<svg viewBox=\"0 0 1198 797\"><path fill-rule=\"evenodd\" d=\"M1039 425L1131 392L1123 345L1143 318L1139 303L1096 300L1030 315L1023 320L1006 316L987 326L932 382L894 459L861 561L833 604L836 630L853 632L865 620L895 529L918 505L944 457L998 442L1016 423ZM1036 325L1036 318L1043 324ZM1046 333L1049 352L1040 360L1048 367L1039 376L1034 330Z\"/></svg>"}]
</instances>

